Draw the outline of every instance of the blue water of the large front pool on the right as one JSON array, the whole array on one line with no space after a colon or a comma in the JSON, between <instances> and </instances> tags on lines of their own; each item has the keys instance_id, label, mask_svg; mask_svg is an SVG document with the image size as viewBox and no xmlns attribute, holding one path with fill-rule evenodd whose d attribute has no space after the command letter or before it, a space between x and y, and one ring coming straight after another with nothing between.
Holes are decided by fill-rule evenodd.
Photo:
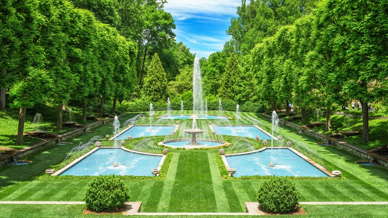
<instances>
[{"instance_id":1,"label":"blue water of the large front pool on the right","mask_svg":"<svg viewBox=\"0 0 388 218\"><path fill-rule=\"evenodd\" d=\"M286 148L273 149L272 162L275 167L269 167L271 148L251 154L225 157L229 167L236 169L236 174L234 174L236 177L254 175L329 177L326 173Z\"/></svg>"}]
</instances>

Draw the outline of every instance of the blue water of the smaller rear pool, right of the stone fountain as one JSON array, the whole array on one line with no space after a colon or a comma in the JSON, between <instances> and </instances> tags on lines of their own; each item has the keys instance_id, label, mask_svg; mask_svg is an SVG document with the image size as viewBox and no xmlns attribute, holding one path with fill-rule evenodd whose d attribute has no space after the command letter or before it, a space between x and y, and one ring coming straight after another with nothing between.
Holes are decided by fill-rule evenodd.
<instances>
[{"instance_id":1,"label":"blue water of the smaller rear pool, right of the stone fountain","mask_svg":"<svg viewBox=\"0 0 388 218\"><path fill-rule=\"evenodd\" d=\"M271 139L271 136L264 133L255 126L235 126L235 125L212 125L213 130L219 135L235 135L255 139L260 136L260 140ZM238 129L238 131L236 130Z\"/></svg>"}]
</instances>

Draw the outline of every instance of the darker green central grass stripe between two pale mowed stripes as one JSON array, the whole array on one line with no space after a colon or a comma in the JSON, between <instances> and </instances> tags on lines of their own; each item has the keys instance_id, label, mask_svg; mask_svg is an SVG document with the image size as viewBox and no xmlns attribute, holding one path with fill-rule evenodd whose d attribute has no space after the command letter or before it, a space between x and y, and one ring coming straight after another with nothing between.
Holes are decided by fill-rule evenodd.
<instances>
[{"instance_id":1,"label":"darker green central grass stripe between two pale mowed stripes","mask_svg":"<svg viewBox=\"0 0 388 218\"><path fill-rule=\"evenodd\" d=\"M217 212L207 152L181 152L170 212Z\"/></svg>"}]
</instances>

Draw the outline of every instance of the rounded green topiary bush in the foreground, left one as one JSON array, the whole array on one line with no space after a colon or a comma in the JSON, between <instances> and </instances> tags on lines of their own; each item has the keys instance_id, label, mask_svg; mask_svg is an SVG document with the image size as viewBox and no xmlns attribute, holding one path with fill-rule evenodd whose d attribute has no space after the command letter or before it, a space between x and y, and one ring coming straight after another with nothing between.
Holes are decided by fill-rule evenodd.
<instances>
[{"instance_id":1,"label":"rounded green topiary bush in the foreground, left one","mask_svg":"<svg viewBox=\"0 0 388 218\"><path fill-rule=\"evenodd\" d=\"M114 175L97 176L86 191L85 202L89 210L114 211L129 200L128 187Z\"/></svg>"}]
</instances>

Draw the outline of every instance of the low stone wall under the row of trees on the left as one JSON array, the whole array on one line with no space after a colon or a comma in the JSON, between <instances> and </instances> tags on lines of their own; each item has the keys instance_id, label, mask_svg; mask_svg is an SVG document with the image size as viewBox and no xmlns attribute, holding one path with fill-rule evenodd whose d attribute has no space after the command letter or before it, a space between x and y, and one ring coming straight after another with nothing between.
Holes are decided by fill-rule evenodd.
<instances>
[{"instance_id":1,"label":"low stone wall under the row of trees on the left","mask_svg":"<svg viewBox=\"0 0 388 218\"><path fill-rule=\"evenodd\" d=\"M85 127L77 128L77 129L74 129L70 132L66 132L62 135L58 135L55 139L42 141L42 142L39 142L37 144L31 145L29 147L17 150L13 153L3 155L0 157L0 166L10 164L10 163L14 162L15 160L20 160L20 159L22 159L22 158L24 158L32 153L35 153L35 152L43 150L49 146L57 144L58 140L62 140L62 141L68 140L68 139L70 139L78 134L87 132L89 129L95 128L99 125L103 125L106 122L109 122L111 120L112 120L112 118L97 121L97 122L89 124Z\"/></svg>"}]
</instances>

